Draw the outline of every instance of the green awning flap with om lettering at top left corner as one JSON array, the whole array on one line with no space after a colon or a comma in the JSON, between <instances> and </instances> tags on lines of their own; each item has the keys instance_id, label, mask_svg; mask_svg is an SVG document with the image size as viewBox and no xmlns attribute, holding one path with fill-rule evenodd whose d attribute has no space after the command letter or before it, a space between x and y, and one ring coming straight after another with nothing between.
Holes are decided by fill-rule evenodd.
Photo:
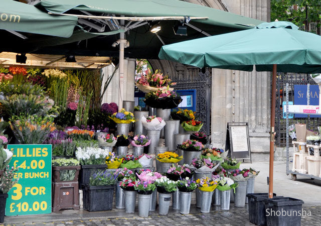
<instances>
[{"instance_id":1,"label":"green awning flap with om lettering at top left corner","mask_svg":"<svg viewBox=\"0 0 321 226\"><path fill-rule=\"evenodd\" d=\"M78 18L52 16L36 7L13 0L1 0L0 29L68 38Z\"/></svg>"}]
</instances>

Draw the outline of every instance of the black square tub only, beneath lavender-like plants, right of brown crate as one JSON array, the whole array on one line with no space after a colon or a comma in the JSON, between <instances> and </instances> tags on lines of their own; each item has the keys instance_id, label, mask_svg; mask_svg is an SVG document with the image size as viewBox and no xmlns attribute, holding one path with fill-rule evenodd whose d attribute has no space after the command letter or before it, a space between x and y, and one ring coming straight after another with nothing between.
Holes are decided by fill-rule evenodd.
<instances>
[{"instance_id":1,"label":"black square tub only, beneath lavender-like plants, right of brown crate","mask_svg":"<svg viewBox=\"0 0 321 226\"><path fill-rule=\"evenodd\" d=\"M88 211L103 211L112 208L115 185L89 186L83 185L84 209Z\"/></svg>"}]
</instances>

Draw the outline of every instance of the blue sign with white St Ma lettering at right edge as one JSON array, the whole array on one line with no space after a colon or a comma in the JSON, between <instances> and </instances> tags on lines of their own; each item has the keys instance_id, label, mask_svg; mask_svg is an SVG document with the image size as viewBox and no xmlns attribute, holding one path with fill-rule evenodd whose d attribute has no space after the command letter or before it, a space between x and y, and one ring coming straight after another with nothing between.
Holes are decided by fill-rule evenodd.
<instances>
[{"instance_id":1,"label":"blue sign with white St Ma lettering at right edge","mask_svg":"<svg viewBox=\"0 0 321 226\"><path fill-rule=\"evenodd\" d=\"M307 105L307 85L294 85L294 104ZM310 85L310 105L319 105L319 87ZM294 118L306 118L304 114L294 114ZM312 116L311 118L319 118L321 116Z\"/></svg>"}]
</instances>

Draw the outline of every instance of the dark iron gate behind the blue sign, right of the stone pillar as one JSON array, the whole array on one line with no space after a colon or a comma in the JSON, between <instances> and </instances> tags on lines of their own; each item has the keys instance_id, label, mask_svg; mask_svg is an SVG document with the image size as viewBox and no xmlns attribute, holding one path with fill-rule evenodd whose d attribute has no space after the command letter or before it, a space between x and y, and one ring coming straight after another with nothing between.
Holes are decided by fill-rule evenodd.
<instances>
[{"instance_id":1,"label":"dark iron gate behind the blue sign, right of the stone pillar","mask_svg":"<svg viewBox=\"0 0 321 226\"><path fill-rule=\"evenodd\" d=\"M272 81L272 79L271 79ZM277 146L286 145L286 123L283 119L282 102L285 100L285 84L289 83L289 101L294 101L294 85L315 85L316 83L307 74L279 73L276 78L276 106L275 106L275 142ZM317 131L317 126L321 125L321 118L293 118L289 119L289 125L305 123L306 128ZM291 140L290 140L291 142Z\"/></svg>"}]
</instances>

